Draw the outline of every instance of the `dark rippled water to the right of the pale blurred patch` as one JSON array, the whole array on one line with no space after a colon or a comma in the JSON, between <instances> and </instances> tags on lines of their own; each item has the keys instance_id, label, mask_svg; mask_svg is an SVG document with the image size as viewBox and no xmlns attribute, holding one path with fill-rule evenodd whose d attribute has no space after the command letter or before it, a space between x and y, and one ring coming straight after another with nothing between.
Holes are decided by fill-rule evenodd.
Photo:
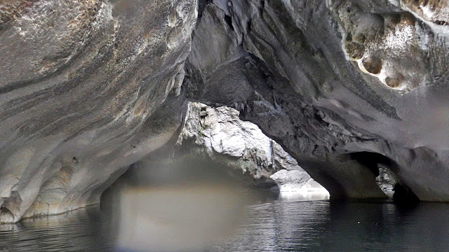
<instances>
[{"instance_id":1,"label":"dark rippled water to the right of the pale blurred patch","mask_svg":"<svg viewBox=\"0 0 449 252\"><path fill-rule=\"evenodd\" d=\"M448 251L449 206L274 201L209 251Z\"/></svg>"}]
</instances>

